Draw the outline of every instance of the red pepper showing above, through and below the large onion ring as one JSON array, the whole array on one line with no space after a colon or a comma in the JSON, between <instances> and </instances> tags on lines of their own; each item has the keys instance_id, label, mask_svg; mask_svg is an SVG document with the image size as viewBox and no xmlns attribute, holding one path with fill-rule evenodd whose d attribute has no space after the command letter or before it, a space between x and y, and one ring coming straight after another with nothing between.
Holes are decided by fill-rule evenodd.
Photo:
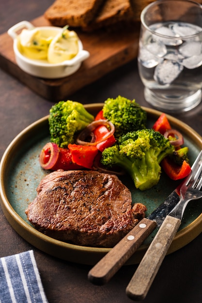
<instances>
[{"instance_id":1,"label":"red pepper showing above, through and below the large onion ring","mask_svg":"<svg viewBox=\"0 0 202 303\"><path fill-rule=\"evenodd\" d=\"M98 112L98 114L96 115L94 120L106 120L103 116L103 110L100 110ZM93 134L95 136L95 141L100 141L104 135L106 135L107 133L109 133L108 128L105 125L99 125L95 128L95 130L93 131ZM114 143L116 142L116 139L114 137L114 135L110 136L108 139L98 143L96 145L97 149L100 152L103 152L107 147L112 146Z\"/></svg>"}]
</instances>

